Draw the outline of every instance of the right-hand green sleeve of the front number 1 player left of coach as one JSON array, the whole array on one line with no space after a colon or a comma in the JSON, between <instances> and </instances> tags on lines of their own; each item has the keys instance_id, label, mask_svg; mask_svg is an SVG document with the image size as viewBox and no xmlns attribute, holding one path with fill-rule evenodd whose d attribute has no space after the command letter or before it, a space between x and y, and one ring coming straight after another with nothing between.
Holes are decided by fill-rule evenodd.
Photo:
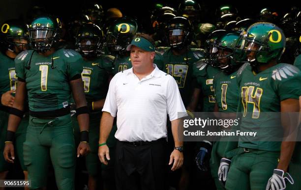
<instances>
[{"instance_id":1,"label":"right-hand green sleeve of the front number 1 player left of coach","mask_svg":"<svg viewBox=\"0 0 301 190\"><path fill-rule=\"evenodd\" d=\"M72 81L81 78L84 62L83 57L73 50L64 50L63 53L67 64L68 79Z\"/></svg>"}]
</instances>

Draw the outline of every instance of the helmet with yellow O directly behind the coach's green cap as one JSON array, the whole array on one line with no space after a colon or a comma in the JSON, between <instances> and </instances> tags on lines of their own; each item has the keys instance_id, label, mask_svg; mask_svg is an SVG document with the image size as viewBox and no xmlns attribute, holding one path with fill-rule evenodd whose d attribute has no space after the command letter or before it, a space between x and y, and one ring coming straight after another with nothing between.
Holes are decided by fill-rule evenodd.
<instances>
[{"instance_id":1,"label":"helmet with yellow O directly behind the coach's green cap","mask_svg":"<svg viewBox=\"0 0 301 190\"><path fill-rule=\"evenodd\" d=\"M111 52L126 52L126 47L131 43L137 28L136 21L128 17L114 21L108 28L105 46Z\"/></svg>"}]
</instances>

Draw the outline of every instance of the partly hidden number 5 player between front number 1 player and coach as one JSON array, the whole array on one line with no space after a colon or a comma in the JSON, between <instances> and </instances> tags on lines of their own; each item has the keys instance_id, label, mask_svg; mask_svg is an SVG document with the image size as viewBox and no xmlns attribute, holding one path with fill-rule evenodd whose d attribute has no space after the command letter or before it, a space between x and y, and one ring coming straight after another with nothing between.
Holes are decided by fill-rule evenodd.
<instances>
[{"instance_id":1,"label":"partly hidden number 5 player between front number 1 player and coach","mask_svg":"<svg viewBox=\"0 0 301 190\"><path fill-rule=\"evenodd\" d=\"M97 187L97 175L101 171L101 163L98 160L98 138L101 108L103 107L108 91L109 75L113 69L112 55L100 54L104 43L103 31L95 24L85 24L79 28L76 37L77 52L84 61L82 62L82 79L84 91L90 109L89 144L91 152L86 157L86 167L89 173L88 188L95 190ZM76 120L72 117L72 120ZM78 122L73 123L75 132L79 132Z\"/></svg>"}]
</instances>

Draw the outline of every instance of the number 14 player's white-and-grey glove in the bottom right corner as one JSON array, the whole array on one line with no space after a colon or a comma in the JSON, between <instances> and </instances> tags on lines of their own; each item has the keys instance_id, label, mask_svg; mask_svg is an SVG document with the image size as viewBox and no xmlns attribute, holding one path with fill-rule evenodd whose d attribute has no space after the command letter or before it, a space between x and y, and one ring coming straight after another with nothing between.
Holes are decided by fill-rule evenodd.
<instances>
[{"instance_id":1,"label":"number 14 player's white-and-grey glove in the bottom right corner","mask_svg":"<svg viewBox=\"0 0 301 190\"><path fill-rule=\"evenodd\" d=\"M274 169L273 175L268 181L266 190L284 190L286 188L286 181L294 184L294 180L289 173L284 177L284 171L281 169Z\"/></svg>"}]
</instances>

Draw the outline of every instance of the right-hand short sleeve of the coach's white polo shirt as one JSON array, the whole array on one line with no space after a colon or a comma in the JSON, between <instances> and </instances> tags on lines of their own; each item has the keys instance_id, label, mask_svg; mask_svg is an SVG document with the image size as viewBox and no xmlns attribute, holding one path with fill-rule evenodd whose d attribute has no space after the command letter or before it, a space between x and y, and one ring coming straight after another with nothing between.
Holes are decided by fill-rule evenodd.
<instances>
[{"instance_id":1,"label":"right-hand short sleeve of the coach's white polo shirt","mask_svg":"<svg viewBox=\"0 0 301 190\"><path fill-rule=\"evenodd\" d=\"M173 121L175 119L187 116L187 112L184 107L177 82L173 77L168 77L169 82L166 96L167 113L169 115L169 120Z\"/></svg>"}]
</instances>

